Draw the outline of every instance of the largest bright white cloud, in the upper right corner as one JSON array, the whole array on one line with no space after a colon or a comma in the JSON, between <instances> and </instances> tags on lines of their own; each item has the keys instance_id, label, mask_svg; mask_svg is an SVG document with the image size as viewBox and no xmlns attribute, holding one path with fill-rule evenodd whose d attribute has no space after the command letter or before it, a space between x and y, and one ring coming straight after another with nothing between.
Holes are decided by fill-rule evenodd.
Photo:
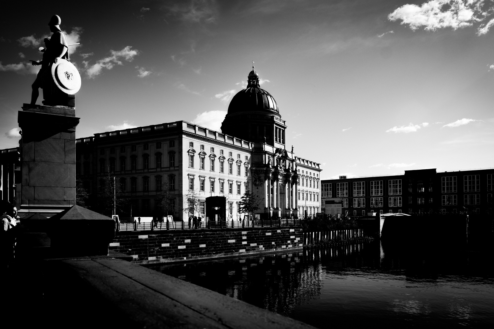
<instances>
[{"instance_id":1,"label":"largest bright white cloud, in the upper right corner","mask_svg":"<svg viewBox=\"0 0 494 329\"><path fill-rule=\"evenodd\" d=\"M390 21L401 20L413 31L423 27L426 31L452 28L453 30L472 26L493 13L492 1L484 0L429 0L417 4L405 4L388 15ZM481 24L477 35L486 34L494 24L493 20Z\"/></svg>"}]
</instances>

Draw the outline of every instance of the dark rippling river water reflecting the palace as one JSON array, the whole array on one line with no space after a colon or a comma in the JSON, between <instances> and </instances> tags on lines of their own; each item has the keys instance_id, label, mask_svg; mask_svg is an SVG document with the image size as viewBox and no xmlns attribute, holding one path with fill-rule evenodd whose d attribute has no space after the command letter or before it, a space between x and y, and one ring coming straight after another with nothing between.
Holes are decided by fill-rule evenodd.
<instances>
[{"instance_id":1,"label":"dark rippling river water reflecting the palace","mask_svg":"<svg viewBox=\"0 0 494 329\"><path fill-rule=\"evenodd\" d=\"M375 240L151 268L318 328L494 328L492 263Z\"/></svg>"}]
</instances>

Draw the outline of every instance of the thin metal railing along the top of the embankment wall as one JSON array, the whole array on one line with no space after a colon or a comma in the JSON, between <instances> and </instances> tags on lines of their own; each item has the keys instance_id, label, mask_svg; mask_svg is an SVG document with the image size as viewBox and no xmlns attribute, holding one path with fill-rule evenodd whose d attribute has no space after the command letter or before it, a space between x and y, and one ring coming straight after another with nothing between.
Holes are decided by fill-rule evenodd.
<instances>
[{"instance_id":1,"label":"thin metal railing along the top of the embankment wall","mask_svg":"<svg viewBox=\"0 0 494 329\"><path fill-rule=\"evenodd\" d=\"M143 223L115 223L117 231L163 231L184 229L227 229L249 227L292 227L302 226L303 219L267 219L267 220L206 220L198 222L161 221Z\"/></svg>"}]
</instances>

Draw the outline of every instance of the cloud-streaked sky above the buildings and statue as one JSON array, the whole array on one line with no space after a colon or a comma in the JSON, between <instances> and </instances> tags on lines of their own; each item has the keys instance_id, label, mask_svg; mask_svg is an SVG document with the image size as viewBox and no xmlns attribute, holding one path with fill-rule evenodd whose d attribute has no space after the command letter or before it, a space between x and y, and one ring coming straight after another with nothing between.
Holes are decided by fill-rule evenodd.
<instances>
[{"instance_id":1,"label":"cloud-streaked sky above the buildings and statue","mask_svg":"<svg viewBox=\"0 0 494 329\"><path fill-rule=\"evenodd\" d=\"M17 114L40 68L29 60L41 60L57 14L81 43L69 47L82 76L76 138L177 120L220 131L254 61L287 121L287 149L321 163L323 179L494 167L493 0L2 8L0 148L18 146Z\"/></svg>"}]
</instances>

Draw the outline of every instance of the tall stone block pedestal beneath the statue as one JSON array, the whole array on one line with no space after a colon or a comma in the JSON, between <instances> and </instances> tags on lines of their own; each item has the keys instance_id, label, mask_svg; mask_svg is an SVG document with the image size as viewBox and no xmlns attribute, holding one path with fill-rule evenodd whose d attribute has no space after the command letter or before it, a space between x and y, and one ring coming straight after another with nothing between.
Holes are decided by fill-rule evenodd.
<instances>
[{"instance_id":1,"label":"tall stone block pedestal beneath the statue","mask_svg":"<svg viewBox=\"0 0 494 329\"><path fill-rule=\"evenodd\" d=\"M70 105L74 105L72 99ZM76 204L76 126L74 106L24 104L19 214L51 217ZM20 201L20 203L19 203Z\"/></svg>"}]
</instances>

